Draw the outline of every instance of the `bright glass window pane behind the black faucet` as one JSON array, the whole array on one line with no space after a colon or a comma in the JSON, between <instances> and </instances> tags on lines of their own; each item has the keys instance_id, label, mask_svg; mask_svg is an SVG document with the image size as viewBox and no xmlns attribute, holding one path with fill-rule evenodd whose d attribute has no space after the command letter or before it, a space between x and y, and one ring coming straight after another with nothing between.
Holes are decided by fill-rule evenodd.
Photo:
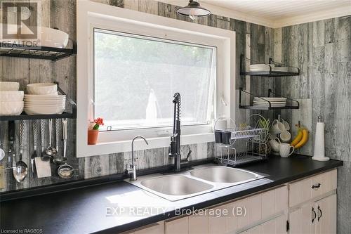
<instances>
[{"instance_id":1,"label":"bright glass window pane behind the black faucet","mask_svg":"<svg viewBox=\"0 0 351 234\"><path fill-rule=\"evenodd\" d=\"M94 29L94 118L112 130L171 126L173 94L182 125L216 115L216 47Z\"/></svg>"}]
</instances>

